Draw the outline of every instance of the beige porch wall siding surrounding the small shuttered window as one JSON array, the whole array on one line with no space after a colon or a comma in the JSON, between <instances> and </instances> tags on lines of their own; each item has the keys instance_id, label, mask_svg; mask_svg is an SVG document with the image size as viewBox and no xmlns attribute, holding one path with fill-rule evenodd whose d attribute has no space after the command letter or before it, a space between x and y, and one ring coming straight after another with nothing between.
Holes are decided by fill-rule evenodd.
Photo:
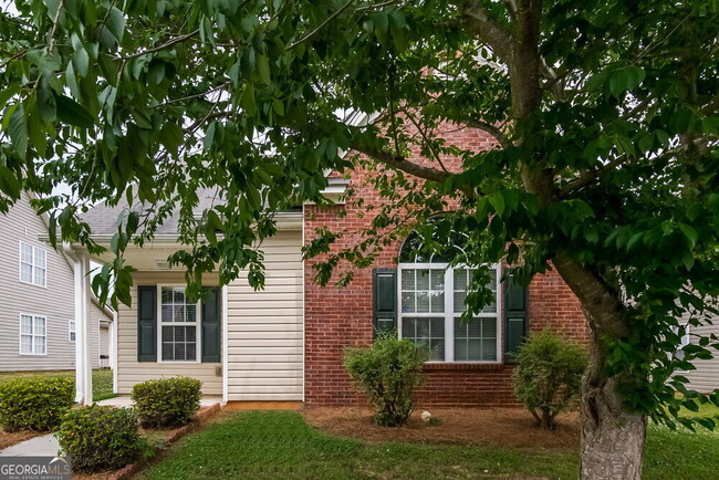
<instances>
[{"instance_id":1,"label":"beige porch wall siding surrounding the small shuttered window","mask_svg":"<svg viewBox=\"0 0 719 480\"><path fill-rule=\"evenodd\" d=\"M185 274L178 271L135 272L132 289L133 306L122 305L117 312L117 393L127 395L133 385L150 378L184 375L202 382L202 394L222 395L222 376L215 374L220 363L137 362L137 285L185 284ZM204 279L217 284L217 278ZM159 335L159 328L157 330ZM199 345L198 345L199 347ZM200 354L198 348L198 355ZM158 352L159 358L159 352Z\"/></svg>"}]
</instances>

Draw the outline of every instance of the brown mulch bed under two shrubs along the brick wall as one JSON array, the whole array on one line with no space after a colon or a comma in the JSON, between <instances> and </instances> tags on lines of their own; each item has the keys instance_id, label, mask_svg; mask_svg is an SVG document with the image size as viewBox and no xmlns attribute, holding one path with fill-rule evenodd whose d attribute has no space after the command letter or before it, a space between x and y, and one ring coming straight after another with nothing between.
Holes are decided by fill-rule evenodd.
<instances>
[{"instance_id":1,"label":"brown mulch bed under two shrubs along the brick wall","mask_svg":"<svg viewBox=\"0 0 719 480\"><path fill-rule=\"evenodd\" d=\"M558 428L545 431L533 417L519 408L427 408L438 425L415 411L400 428L375 425L368 408L305 408L308 424L343 437L367 441L406 441L411 444L477 445L509 448L570 449L580 445L579 414L558 417Z\"/></svg>"}]
</instances>

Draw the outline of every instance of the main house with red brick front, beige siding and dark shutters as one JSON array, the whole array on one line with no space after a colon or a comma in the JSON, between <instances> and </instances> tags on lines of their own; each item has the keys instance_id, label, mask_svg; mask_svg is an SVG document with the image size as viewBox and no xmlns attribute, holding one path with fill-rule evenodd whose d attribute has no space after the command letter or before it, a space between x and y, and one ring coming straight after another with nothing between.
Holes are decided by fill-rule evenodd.
<instances>
[{"instance_id":1,"label":"main house with red brick front, beige siding and dark shutters","mask_svg":"<svg viewBox=\"0 0 719 480\"><path fill-rule=\"evenodd\" d=\"M493 143L480 131L454 129L445 138L460 148ZM383 201L367 185L369 175L357 168L348 179L331 176L326 195L337 205L303 205L277 216L278 233L261 246L267 269L262 291L253 291L243 275L226 286L207 275L204 284L216 285L212 293L202 303L188 301L184 271L167 262L180 248L176 218L144 248L128 247L124 257L137 272L132 307L122 306L117 316L117 393L127 395L139 382L180 374L200 379L204 395L225 401L358 405L365 400L343 368L343 352L369 344L375 328L396 328L430 347L421 404L504 406L515 404L508 352L528 331L551 326L586 340L579 301L554 271L536 275L524 289L500 281L502 265L494 265L494 300L468 323L459 316L469 271L448 268L446 259L413 257L403 241L385 248L348 286L316 285L313 261L303 262L301 249L320 227L359 231L369 226L369 216L356 202ZM211 192L200 195L197 215L213 201ZM142 207L91 210L85 221L94 238L108 243L117 231L115 219L128 208ZM352 241L356 238L344 236L338 247Z\"/></svg>"}]
</instances>

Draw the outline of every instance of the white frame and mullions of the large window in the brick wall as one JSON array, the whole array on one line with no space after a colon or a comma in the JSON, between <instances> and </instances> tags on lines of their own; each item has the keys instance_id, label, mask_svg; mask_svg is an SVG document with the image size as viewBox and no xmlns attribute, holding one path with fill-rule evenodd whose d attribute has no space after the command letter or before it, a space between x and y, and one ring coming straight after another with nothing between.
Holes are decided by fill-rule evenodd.
<instances>
[{"instance_id":1,"label":"white frame and mullions of the large window in the brick wall","mask_svg":"<svg viewBox=\"0 0 719 480\"><path fill-rule=\"evenodd\" d=\"M501 364L503 362L502 351L502 294L501 294L501 264L494 263L490 269L496 271L497 291L496 303L497 312L479 312L473 314L472 317L497 317L497 359L482 361L456 361L455 359L455 320L461 316L461 312L455 312L455 270L472 270L467 265L451 267L449 263L439 262L400 262L397 265L397 334L402 338L403 320L404 317L414 319L445 319L445 359L444 361L429 361L428 363L465 363L465 364ZM403 312L402 310L402 272L403 270L444 270L445 272L445 312L444 313L418 313L418 312Z\"/></svg>"}]
</instances>

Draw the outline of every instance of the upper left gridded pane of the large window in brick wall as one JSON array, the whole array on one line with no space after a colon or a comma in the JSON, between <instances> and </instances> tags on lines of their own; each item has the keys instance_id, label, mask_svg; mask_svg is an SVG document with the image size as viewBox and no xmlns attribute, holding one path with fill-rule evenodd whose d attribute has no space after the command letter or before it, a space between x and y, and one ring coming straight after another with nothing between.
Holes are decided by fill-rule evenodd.
<instances>
[{"instance_id":1,"label":"upper left gridded pane of the large window in brick wall","mask_svg":"<svg viewBox=\"0 0 719 480\"><path fill-rule=\"evenodd\" d=\"M402 271L403 313L445 312L445 271L407 269Z\"/></svg>"}]
</instances>

